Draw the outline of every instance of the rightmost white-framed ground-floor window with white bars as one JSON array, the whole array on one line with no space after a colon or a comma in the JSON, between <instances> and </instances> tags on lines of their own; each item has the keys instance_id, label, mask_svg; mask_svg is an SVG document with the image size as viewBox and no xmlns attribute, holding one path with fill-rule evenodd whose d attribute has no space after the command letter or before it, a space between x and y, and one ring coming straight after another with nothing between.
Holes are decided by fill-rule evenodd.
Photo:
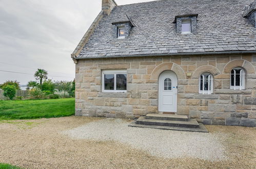
<instances>
[{"instance_id":1,"label":"rightmost white-framed ground-floor window with white bars","mask_svg":"<svg viewBox=\"0 0 256 169\"><path fill-rule=\"evenodd\" d=\"M230 89L245 90L245 71L243 68L231 70Z\"/></svg>"}]
</instances>

